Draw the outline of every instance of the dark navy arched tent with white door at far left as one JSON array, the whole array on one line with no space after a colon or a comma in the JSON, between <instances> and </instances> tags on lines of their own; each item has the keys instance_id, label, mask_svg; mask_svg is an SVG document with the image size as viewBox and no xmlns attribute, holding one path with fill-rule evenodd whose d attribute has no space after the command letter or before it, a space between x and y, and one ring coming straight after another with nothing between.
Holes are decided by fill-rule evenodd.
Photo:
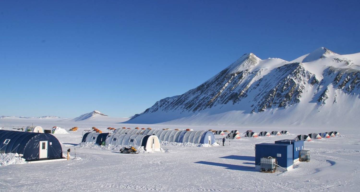
<instances>
[{"instance_id":1,"label":"dark navy arched tent with white door at far left","mask_svg":"<svg viewBox=\"0 0 360 192\"><path fill-rule=\"evenodd\" d=\"M63 157L61 144L54 135L0 130L0 153L22 154L26 161Z\"/></svg>"}]
</instances>

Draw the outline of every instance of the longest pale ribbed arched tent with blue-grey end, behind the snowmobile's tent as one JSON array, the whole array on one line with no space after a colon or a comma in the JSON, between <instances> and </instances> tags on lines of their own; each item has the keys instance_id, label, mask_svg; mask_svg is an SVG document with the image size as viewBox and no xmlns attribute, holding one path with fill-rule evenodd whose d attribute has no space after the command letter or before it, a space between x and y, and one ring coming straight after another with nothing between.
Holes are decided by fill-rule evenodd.
<instances>
[{"instance_id":1,"label":"longest pale ribbed arched tent with blue-grey end, behind the snowmobile's tent","mask_svg":"<svg viewBox=\"0 0 360 192\"><path fill-rule=\"evenodd\" d=\"M114 133L119 134L139 134L139 135L156 135L161 141L178 142L178 143L215 143L214 134L211 131L181 131L181 130L159 130L159 129L116 129Z\"/></svg>"}]
</instances>

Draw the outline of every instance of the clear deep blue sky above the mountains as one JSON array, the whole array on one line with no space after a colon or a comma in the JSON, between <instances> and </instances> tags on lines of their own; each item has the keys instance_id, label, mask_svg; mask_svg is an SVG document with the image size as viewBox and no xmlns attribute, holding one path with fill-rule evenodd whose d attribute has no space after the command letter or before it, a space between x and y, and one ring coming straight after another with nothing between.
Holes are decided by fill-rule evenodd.
<instances>
[{"instance_id":1,"label":"clear deep blue sky above the mountains","mask_svg":"<svg viewBox=\"0 0 360 192\"><path fill-rule=\"evenodd\" d=\"M113 117L244 53L360 52L359 1L0 1L0 116Z\"/></svg>"}]
</instances>

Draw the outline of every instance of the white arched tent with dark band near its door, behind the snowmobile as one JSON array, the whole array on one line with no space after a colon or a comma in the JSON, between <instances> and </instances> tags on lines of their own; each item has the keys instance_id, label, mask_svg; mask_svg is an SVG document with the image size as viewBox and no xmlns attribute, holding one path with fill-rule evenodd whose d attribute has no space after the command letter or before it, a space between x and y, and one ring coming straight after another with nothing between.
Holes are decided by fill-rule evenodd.
<instances>
[{"instance_id":1,"label":"white arched tent with dark band near its door, behind the snowmobile","mask_svg":"<svg viewBox=\"0 0 360 192\"><path fill-rule=\"evenodd\" d=\"M105 145L123 145L144 147L145 151L160 151L159 138L156 135L110 134Z\"/></svg>"}]
</instances>

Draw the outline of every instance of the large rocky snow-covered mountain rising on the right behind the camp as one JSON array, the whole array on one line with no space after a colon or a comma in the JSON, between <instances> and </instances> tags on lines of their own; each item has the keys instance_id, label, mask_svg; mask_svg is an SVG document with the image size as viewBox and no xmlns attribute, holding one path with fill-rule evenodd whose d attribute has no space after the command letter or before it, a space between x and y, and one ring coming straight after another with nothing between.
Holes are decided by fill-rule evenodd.
<instances>
[{"instance_id":1,"label":"large rocky snow-covered mountain rising on the right behind the camp","mask_svg":"<svg viewBox=\"0 0 360 192\"><path fill-rule=\"evenodd\" d=\"M321 47L290 62L250 53L126 123L355 126L359 93L360 53Z\"/></svg>"}]
</instances>

